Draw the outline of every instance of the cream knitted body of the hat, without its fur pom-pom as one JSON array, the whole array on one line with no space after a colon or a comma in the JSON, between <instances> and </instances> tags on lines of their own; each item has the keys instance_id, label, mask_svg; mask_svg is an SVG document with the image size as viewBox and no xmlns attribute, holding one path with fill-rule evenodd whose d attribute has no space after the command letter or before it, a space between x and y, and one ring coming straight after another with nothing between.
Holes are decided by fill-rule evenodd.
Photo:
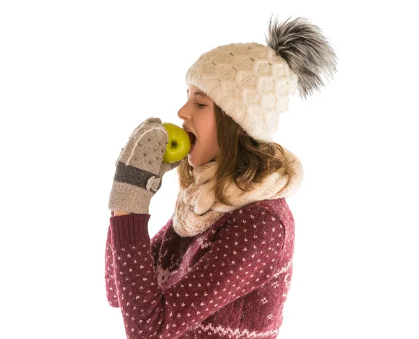
<instances>
[{"instance_id":1,"label":"cream knitted body of the hat, without its fur pom-pom","mask_svg":"<svg viewBox=\"0 0 419 339\"><path fill-rule=\"evenodd\" d=\"M297 90L297 75L286 61L260 43L213 48L188 69L185 82L204 91L258 142L273 141L279 114Z\"/></svg>"}]
</instances>

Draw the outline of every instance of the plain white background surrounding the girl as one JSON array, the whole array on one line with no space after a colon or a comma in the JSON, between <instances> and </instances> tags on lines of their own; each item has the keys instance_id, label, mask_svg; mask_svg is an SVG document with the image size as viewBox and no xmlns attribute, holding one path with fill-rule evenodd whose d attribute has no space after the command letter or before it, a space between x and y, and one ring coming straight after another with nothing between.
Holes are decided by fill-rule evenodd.
<instances>
[{"instance_id":1,"label":"plain white background surrounding the girl","mask_svg":"<svg viewBox=\"0 0 419 339\"><path fill-rule=\"evenodd\" d=\"M307 17L334 80L297 93L275 141L300 158L278 338L419 338L418 26L407 1L1 1L1 338L126 338L105 294L115 160L149 116L182 125L184 75ZM172 215L168 172L149 234Z\"/></svg>"}]
</instances>

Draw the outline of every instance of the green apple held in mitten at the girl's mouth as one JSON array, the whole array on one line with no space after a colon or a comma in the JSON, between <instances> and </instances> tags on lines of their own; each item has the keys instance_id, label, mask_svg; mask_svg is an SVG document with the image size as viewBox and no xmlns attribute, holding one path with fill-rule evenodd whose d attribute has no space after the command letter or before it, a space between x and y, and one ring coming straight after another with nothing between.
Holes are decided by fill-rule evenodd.
<instances>
[{"instance_id":1,"label":"green apple held in mitten at the girl's mouth","mask_svg":"<svg viewBox=\"0 0 419 339\"><path fill-rule=\"evenodd\" d=\"M161 125L168 131L168 144L166 144L166 152L163 154L163 163L176 163L191 150L191 140L186 130L175 123L164 122Z\"/></svg>"}]
</instances>

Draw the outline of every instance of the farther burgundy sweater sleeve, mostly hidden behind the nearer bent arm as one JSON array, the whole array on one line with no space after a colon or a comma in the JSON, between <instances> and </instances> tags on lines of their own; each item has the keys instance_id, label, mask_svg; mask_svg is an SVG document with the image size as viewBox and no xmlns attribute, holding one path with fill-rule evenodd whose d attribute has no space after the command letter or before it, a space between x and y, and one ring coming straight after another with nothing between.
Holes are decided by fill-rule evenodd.
<instances>
[{"instance_id":1,"label":"farther burgundy sweater sleeve, mostly hidden behind the nearer bent arm","mask_svg":"<svg viewBox=\"0 0 419 339\"><path fill-rule=\"evenodd\" d=\"M113 211L111 211L111 216L114 216ZM170 220L164 227L159 229L159 232L154 234L151 240L151 250L152 258L154 263L154 270L157 269L157 263L159 261L159 253L161 248L161 243L163 242L163 236L165 234ZM105 248L105 287L106 287L106 297L110 306L114 308L119 308L119 301L117 298L117 285L115 282L115 269L113 264L113 250L112 250L112 241L110 240L110 226L108 227L108 235L106 236L106 248Z\"/></svg>"}]
</instances>

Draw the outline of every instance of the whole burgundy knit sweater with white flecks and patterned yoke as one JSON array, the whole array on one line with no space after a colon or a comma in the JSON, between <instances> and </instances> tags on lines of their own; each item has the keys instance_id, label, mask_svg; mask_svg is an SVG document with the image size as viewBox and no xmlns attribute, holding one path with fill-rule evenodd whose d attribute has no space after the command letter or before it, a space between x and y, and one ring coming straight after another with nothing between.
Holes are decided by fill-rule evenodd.
<instances>
[{"instance_id":1,"label":"whole burgundy knit sweater with white flecks and patterned yoke","mask_svg":"<svg viewBox=\"0 0 419 339\"><path fill-rule=\"evenodd\" d=\"M172 218L150 240L149 214L110 217L105 284L126 338L277 338L293 273L285 198L223 214L197 236Z\"/></svg>"}]
</instances>

